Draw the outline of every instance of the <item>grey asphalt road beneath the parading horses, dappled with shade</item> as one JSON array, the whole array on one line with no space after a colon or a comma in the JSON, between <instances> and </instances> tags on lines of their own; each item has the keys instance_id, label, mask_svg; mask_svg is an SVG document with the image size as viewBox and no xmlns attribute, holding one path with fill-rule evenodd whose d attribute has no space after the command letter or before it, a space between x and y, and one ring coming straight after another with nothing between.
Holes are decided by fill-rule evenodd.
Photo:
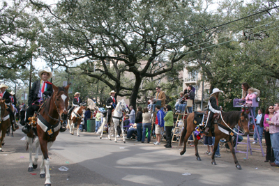
<instances>
[{"instance_id":1,"label":"grey asphalt road beneath the parading horses, dappled with shade","mask_svg":"<svg viewBox=\"0 0 279 186\"><path fill-rule=\"evenodd\" d=\"M0 153L0 186L44 185L39 168L30 174L29 153L24 150L24 134L6 137ZM164 148L135 141L126 144L99 139L98 135L81 132L80 137L60 133L50 150L52 185L277 185L278 169L257 169L242 166L236 169L232 159L216 159L200 152L195 158L193 148L179 155L179 148ZM174 145L175 146L175 145ZM224 156L232 156L224 154ZM40 153L41 157L41 153ZM41 158L38 163L40 164ZM66 166L68 171L59 171ZM188 175L183 175L183 174ZM34 175L36 174L36 175ZM190 174L190 175L189 175Z\"/></svg>"}]
</instances>

